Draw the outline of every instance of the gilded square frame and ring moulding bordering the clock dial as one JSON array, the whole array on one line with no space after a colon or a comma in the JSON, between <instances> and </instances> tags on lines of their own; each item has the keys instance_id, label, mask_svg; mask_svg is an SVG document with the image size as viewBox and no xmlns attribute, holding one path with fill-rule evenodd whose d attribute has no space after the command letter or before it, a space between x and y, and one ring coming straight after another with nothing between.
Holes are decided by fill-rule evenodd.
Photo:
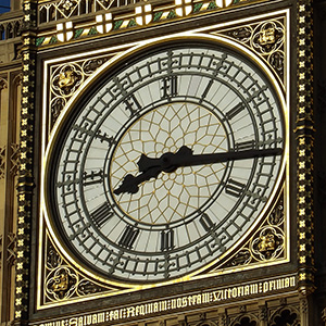
<instances>
[{"instance_id":1,"label":"gilded square frame and ring moulding bordering the clock dial","mask_svg":"<svg viewBox=\"0 0 326 326\"><path fill-rule=\"evenodd\" d=\"M248 24L254 24L256 22L268 22L268 21L275 21L276 17L283 17L284 21L286 22L285 24L285 40L284 40L284 48L285 48L285 58L286 58L286 64L285 64L285 79L284 84L281 83L280 78L273 72L273 68L271 70L271 66L268 66L267 61L262 57L259 55L258 53L254 53L252 49L249 49L246 45L241 45L239 41L236 41L235 39L230 37L226 37L224 32L230 29L234 26L243 26ZM74 106L74 103L76 100L83 96L84 92L87 91L87 88L91 86L91 84L98 78L101 74L104 74L106 70L109 70L112 65L114 65L116 62L122 60L123 58L126 58L128 55L133 55L137 53L140 49L147 48L152 45L160 45L162 42L166 42L168 40L175 40L178 38L202 38L202 39L208 39L212 41L217 41L217 42L224 42L228 45L229 47L233 47L237 49L238 51L241 51L244 55L251 55L251 58L254 58L255 63L264 71L265 75L268 76L269 80L273 83L273 86L277 90L278 97L281 101L281 105L284 108L284 111L286 112L286 130L287 130L287 145L286 145L286 151L285 151L285 161L284 161L284 172L285 172L285 178L283 180L278 181L278 187L275 187L273 195L271 198L276 197L276 192L280 191L280 188L283 191L281 196L284 196L284 210L285 210L285 225L284 225L284 234L285 234L285 254L281 259L276 259L273 262L271 261L265 261L265 262L259 262L250 265L244 265L241 267L223 267L214 272L210 272L203 275L198 275L200 273L196 273L196 275L189 275L187 277L183 277L177 280L172 280L172 281L166 281L162 284L156 284L156 285L150 285L150 286L130 286L125 285L125 284L116 284L109 281L108 279L103 279L102 277L99 277L98 275L91 275L89 277L89 272L87 268L84 266L78 265L77 262L74 261L74 259L71 256L71 254L65 250L64 244L61 243L61 240L57 237L55 230L52 226L52 223L47 215L46 211L46 202L43 200L45 198L45 192L43 192L43 181L42 181L42 188L40 191L40 198L41 200L41 209L39 212L39 225L40 225L40 230L39 230L39 250L38 250L38 291L37 291L37 308L38 309L46 309L49 306L57 306L61 304L66 304L71 302L78 302L79 300L91 300L95 298L103 298L103 297L110 297L110 296L115 296L115 294L122 294L125 292L130 292L130 291L137 291L141 289L147 289L147 288L152 288L152 287L160 287L163 285L170 285L170 284L175 284L178 281L188 281L188 280L196 280L196 279L202 279L206 277L213 277L217 276L221 274L229 274L234 272L240 272L240 271L247 271L247 269L252 269L252 268L258 268L258 267L263 267L263 266L269 266L269 265L277 265L277 264L284 264L286 262L289 262L289 256L290 256L290 242L289 242L289 45L288 45L288 33L289 33L289 10L283 10L278 12L271 13L268 15L259 15L255 17L251 18L246 18L246 20L239 20L237 22L229 23L229 26L227 24L216 24L215 26L210 26L210 27L202 27L193 30L189 30L188 33L180 33L180 34L175 34L173 36L168 37L158 37L153 39L148 39L142 42L130 42L128 45L123 45L121 47L115 47L110 49L110 53L115 53L111 59L109 59L103 65L101 65L91 76L89 76L83 85L80 85L79 89L71 96L68 99L68 102L65 105L65 112L70 110L70 108ZM106 52L106 53L105 53ZM98 50L98 51L90 51L88 53L83 53L78 55L71 55L66 58L60 58L57 60L49 60L43 63L43 74L45 74L45 80L47 84L49 84L49 80L52 78L52 76L48 75L49 67L54 66L54 65L65 65L68 62L73 63L76 60L82 60L83 57L97 57L97 55L110 55L106 50ZM49 85L43 87L43 102L42 102L42 110L43 110L43 121L42 121L42 153L47 155L49 152L52 143L53 143L53 135L57 134L57 131L60 129L63 120L59 118L59 121L54 124L52 130L50 131L50 123L49 123L49 105L48 105L48 99L49 99ZM61 116L63 116L64 113L61 113ZM50 143L50 147L48 145ZM41 180L43 180L47 176L47 171L45 171L45 156L42 156L42 173L41 173ZM281 186L283 185L283 186ZM274 202L274 206L276 206L276 202ZM268 205L271 206L271 205ZM266 209L265 209L266 211ZM264 214L266 213L264 211ZM271 210L272 212L272 210ZM45 213L45 215L43 215ZM246 233L246 236L243 238L248 238L249 234L252 234L253 230L258 227L258 224L261 222L255 222L250 229ZM80 296L80 297L68 297L64 299L58 299L58 300L45 300L45 288L46 288L46 274L45 274L45 263L46 263L46 246L45 246L45 238L49 238L50 241L53 242L53 248L58 251L59 255L61 256L62 261L66 262L66 265L70 266L71 268L75 269L77 274L88 275L88 277L95 283L98 284L99 286L102 286L103 288L106 288L106 291L101 292L101 293L96 293L91 296ZM54 240L55 239L55 240ZM247 240L246 240L247 241ZM238 242L241 242L238 241ZM55 244L54 244L55 243ZM242 241L242 247L246 243ZM239 243L236 243L234 247L239 247ZM238 248L239 249L239 248ZM241 249L241 248L240 248ZM223 260L225 256L227 256L233 249L229 249L222 258ZM239 251L239 250L238 250ZM216 264L216 262L214 262ZM213 265L213 264L212 264ZM200 272L203 272L203 269L206 269L208 266L202 268Z\"/></svg>"}]
</instances>

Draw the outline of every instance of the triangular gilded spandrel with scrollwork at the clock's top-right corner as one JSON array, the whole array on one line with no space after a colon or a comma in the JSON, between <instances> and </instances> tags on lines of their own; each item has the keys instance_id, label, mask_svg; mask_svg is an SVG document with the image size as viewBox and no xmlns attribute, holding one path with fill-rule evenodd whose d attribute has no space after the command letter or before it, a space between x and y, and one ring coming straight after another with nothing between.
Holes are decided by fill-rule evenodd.
<instances>
[{"instance_id":1,"label":"triangular gilded spandrel with scrollwork at the clock's top-right corner","mask_svg":"<svg viewBox=\"0 0 326 326\"><path fill-rule=\"evenodd\" d=\"M214 34L224 34L237 39L265 59L279 78L285 82L285 21L269 20L228 28Z\"/></svg>"}]
</instances>

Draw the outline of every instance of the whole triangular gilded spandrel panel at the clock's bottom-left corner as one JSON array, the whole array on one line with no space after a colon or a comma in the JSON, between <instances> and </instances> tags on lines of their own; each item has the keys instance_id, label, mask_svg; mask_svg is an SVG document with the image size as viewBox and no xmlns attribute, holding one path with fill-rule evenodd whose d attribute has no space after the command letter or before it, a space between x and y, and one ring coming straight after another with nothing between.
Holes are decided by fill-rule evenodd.
<instances>
[{"instance_id":1,"label":"whole triangular gilded spandrel panel at the clock's bottom-left corner","mask_svg":"<svg viewBox=\"0 0 326 326\"><path fill-rule=\"evenodd\" d=\"M73 268L59 253L47 237L46 269L43 278L43 303L64 302L75 298L109 292L112 288L103 287Z\"/></svg>"}]
</instances>

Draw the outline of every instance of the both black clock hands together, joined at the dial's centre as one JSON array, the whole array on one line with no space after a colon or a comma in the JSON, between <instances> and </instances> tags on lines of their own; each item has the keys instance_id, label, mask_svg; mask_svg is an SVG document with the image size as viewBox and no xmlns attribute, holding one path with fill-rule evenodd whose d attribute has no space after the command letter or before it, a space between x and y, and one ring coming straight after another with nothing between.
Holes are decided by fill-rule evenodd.
<instances>
[{"instance_id":1,"label":"both black clock hands together, joined at the dial's centre","mask_svg":"<svg viewBox=\"0 0 326 326\"><path fill-rule=\"evenodd\" d=\"M137 163L139 166L139 172L142 173L136 177L130 174L126 175L122 181L122 185L113 192L115 195L121 195L124 192L136 193L138 192L138 186L141 183L151 178L156 178L161 172L172 173L181 166L205 165L212 163L223 163L227 161L273 156L280 155L281 152L283 149L275 148L193 155L191 149L183 146L176 153L167 152L158 159L151 159L142 154Z\"/></svg>"}]
</instances>

